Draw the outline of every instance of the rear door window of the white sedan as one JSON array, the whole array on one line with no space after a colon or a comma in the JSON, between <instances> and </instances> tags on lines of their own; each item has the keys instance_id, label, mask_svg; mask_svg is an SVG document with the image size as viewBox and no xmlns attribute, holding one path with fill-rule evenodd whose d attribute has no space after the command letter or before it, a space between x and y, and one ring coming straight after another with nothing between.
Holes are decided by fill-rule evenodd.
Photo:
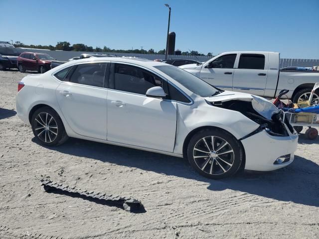
<instances>
[{"instance_id":1,"label":"rear door window of the white sedan","mask_svg":"<svg viewBox=\"0 0 319 239\"><path fill-rule=\"evenodd\" d=\"M87 86L104 86L107 63L88 63L77 65L70 77L70 82Z\"/></svg>"}]
</instances>

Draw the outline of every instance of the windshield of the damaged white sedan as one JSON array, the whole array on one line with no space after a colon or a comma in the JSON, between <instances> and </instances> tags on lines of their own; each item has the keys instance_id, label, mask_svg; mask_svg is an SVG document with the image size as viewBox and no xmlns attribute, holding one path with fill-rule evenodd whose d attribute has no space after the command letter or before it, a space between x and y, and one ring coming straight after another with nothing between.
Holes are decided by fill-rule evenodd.
<instances>
[{"instance_id":1,"label":"windshield of the damaged white sedan","mask_svg":"<svg viewBox=\"0 0 319 239\"><path fill-rule=\"evenodd\" d=\"M210 97L218 92L215 87L178 67L155 66L155 68L165 73L167 76L170 76L188 90L201 97Z\"/></svg>"}]
</instances>

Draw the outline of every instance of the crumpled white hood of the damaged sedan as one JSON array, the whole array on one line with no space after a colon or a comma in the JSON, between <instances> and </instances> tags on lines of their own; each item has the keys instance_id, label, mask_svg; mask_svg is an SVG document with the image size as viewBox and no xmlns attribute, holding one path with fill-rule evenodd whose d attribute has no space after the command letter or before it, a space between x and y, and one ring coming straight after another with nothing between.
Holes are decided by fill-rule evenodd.
<instances>
[{"instance_id":1,"label":"crumpled white hood of the damaged sedan","mask_svg":"<svg viewBox=\"0 0 319 239\"><path fill-rule=\"evenodd\" d=\"M206 97L205 100L208 102L226 102L233 100L251 102L254 110L269 120L272 119L274 114L279 113L279 109L273 103L267 101L265 98L247 93L224 91L216 96Z\"/></svg>"}]
</instances>

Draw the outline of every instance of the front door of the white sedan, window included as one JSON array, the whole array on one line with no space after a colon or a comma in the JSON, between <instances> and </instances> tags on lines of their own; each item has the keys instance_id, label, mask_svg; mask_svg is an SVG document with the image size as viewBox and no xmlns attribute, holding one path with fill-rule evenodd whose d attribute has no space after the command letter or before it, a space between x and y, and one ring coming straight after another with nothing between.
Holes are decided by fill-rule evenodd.
<instances>
[{"instance_id":1,"label":"front door of the white sedan, window included","mask_svg":"<svg viewBox=\"0 0 319 239\"><path fill-rule=\"evenodd\" d=\"M114 63L107 99L107 140L173 152L176 101L146 96L166 81L138 66Z\"/></svg>"}]
</instances>

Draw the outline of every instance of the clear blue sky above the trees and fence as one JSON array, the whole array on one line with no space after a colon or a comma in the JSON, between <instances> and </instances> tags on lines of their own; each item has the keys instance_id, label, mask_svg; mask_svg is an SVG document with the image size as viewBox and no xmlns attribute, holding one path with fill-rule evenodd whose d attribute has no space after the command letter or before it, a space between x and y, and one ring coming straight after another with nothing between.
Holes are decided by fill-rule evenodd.
<instances>
[{"instance_id":1,"label":"clear blue sky above the trees and fence","mask_svg":"<svg viewBox=\"0 0 319 239\"><path fill-rule=\"evenodd\" d=\"M319 59L319 0L0 0L0 40L160 50L167 33L164 3L172 9L175 49Z\"/></svg>"}]
</instances>

